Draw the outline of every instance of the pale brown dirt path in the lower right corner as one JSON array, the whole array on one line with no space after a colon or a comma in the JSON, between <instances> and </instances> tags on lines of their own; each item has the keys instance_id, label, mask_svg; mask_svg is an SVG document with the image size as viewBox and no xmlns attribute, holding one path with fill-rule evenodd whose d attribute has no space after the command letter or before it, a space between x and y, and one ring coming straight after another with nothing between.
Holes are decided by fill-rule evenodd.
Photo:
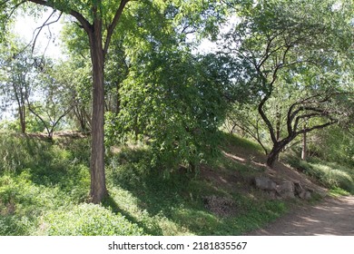
<instances>
[{"instance_id":1,"label":"pale brown dirt path in the lower right corner","mask_svg":"<svg viewBox=\"0 0 354 254\"><path fill-rule=\"evenodd\" d=\"M253 231L250 236L354 236L354 196L326 199L314 207L302 208Z\"/></svg>"}]
</instances>

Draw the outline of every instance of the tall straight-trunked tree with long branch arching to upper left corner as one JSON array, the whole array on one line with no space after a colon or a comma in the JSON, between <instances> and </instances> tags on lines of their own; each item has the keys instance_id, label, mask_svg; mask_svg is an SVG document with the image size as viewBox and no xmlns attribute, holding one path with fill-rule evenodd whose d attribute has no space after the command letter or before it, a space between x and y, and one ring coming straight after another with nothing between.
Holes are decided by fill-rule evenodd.
<instances>
[{"instance_id":1,"label":"tall straight-trunked tree with long branch arching to upper left corner","mask_svg":"<svg viewBox=\"0 0 354 254\"><path fill-rule=\"evenodd\" d=\"M107 195L104 173L104 87L103 66L108 53L113 31L122 17L123 9L129 0L121 1L69 1L69 0L28 0L2 1L2 19L8 18L20 5L35 4L51 7L74 17L84 29L90 45L90 57L93 64L93 119L91 152L91 192L93 203L99 203Z\"/></svg>"}]
</instances>

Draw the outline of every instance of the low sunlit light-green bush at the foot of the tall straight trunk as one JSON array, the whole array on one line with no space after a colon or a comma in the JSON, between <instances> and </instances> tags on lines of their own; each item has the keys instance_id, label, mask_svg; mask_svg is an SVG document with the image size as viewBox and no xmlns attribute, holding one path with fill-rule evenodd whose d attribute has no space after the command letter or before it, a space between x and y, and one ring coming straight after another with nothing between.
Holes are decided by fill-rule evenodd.
<instances>
[{"instance_id":1,"label":"low sunlit light-green bush at the foot of the tall straight trunk","mask_svg":"<svg viewBox=\"0 0 354 254\"><path fill-rule=\"evenodd\" d=\"M45 235L61 236L137 236L143 230L99 205L81 204L72 210L57 210L44 215Z\"/></svg>"}]
</instances>

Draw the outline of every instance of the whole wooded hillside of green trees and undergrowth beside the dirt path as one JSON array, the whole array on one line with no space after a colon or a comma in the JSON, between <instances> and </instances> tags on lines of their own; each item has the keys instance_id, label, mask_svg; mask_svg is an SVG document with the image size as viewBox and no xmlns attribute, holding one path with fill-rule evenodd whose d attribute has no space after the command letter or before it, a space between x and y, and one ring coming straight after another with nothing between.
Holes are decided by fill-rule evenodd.
<instances>
[{"instance_id":1,"label":"whole wooded hillside of green trees and undergrowth beside the dirt path","mask_svg":"<svg viewBox=\"0 0 354 254\"><path fill-rule=\"evenodd\" d=\"M0 0L0 235L241 235L353 195L353 14ZM29 42L19 17L44 18Z\"/></svg>"}]
</instances>

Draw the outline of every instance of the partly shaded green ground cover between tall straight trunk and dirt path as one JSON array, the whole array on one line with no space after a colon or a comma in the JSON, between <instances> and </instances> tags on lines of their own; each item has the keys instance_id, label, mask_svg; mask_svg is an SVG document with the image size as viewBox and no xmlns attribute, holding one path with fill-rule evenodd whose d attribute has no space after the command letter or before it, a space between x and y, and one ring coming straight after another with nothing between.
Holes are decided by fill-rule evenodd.
<instances>
[{"instance_id":1,"label":"partly shaded green ground cover between tall straight trunk and dirt path","mask_svg":"<svg viewBox=\"0 0 354 254\"><path fill-rule=\"evenodd\" d=\"M234 149L235 143L230 141ZM250 152L257 152L250 144L245 146ZM121 147L110 157L107 165L107 184L112 193L107 205L148 234L238 235L260 227L265 221L274 220L287 210L282 201L257 199L254 196L260 193L239 190L237 185L229 188L226 183L218 184L185 174L182 169L172 172L166 179L159 171L151 171L151 152L148 147ZM221 168L225 167L230 174L249 174L252 171L226 157L218 160L220 164L210 169L217 176L224 177L225 172ZM250 198L252 195L254 199ZM204 203L205 198L210 196L233 200L237 212L231 217L212 213Z\"/></svg>"}]
</instances>

